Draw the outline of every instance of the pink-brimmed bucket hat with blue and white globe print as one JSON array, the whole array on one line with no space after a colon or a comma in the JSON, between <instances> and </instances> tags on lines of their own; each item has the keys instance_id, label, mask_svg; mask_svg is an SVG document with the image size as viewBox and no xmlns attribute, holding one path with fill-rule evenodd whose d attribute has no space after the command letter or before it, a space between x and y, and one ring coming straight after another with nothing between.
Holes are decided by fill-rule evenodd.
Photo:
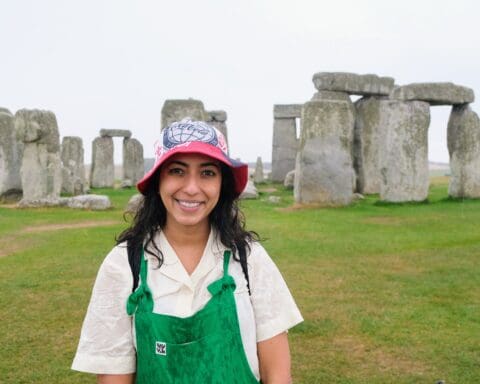
<instances>
[{"instance_id":1,"label":"pink-brimmed bucket hat with blue and white globe print","mask_svg":"<svg viewBox=\"0 0 480 384\"><path fill-rule=\"evenodd\" d=\"M239 196L248 180L248 165L228 156L227 142L215 127L189 119L172 123L161 132L155 143L155 163L137 183L137 189L145 194L155 172L162 164L177 153L197 153L209 156L229 166L235 182L235 195Z\"/></svg>"}]
</instances>

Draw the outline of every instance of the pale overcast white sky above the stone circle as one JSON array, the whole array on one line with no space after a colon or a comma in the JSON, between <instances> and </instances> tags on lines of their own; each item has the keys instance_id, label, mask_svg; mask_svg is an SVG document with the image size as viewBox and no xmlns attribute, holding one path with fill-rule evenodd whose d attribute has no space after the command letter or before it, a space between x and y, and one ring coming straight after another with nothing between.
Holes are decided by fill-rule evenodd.
<instances>
[{"instance_id":1,"label":"pale overcast white sky above the stone circle","mask_svg":"<svg viewBox=\"0 0 480 384\"><path fill-rule=\"evenodd\" d=\"M273 105L308 101L316 72L451 81L478 96L479 4L3 0L0 107L53 111L89 163L101 128L131 130L153 157L164 101L191 97L227 112L234 157L270 161ZM449 111L431 109L430 160L448 162Z\"/></svg>"}]
</instances>

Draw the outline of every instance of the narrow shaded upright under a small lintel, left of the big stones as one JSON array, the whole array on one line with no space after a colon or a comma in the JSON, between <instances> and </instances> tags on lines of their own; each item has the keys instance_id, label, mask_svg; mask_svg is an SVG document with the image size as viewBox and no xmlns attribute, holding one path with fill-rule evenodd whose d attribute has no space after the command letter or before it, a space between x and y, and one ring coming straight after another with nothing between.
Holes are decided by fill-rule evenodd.
<instances>
[{"instance_id":1,"label":"narrow shaded upright under a small lintel, left of the big stones","mask_svg":"<svg viewBox=\"0 0 480 384\"><path fill-rule=\"evenodd\" d=\"M274 119L271 180L282 182L295 168L298 139L295 119Z\"/></svg>"}]
</instances>

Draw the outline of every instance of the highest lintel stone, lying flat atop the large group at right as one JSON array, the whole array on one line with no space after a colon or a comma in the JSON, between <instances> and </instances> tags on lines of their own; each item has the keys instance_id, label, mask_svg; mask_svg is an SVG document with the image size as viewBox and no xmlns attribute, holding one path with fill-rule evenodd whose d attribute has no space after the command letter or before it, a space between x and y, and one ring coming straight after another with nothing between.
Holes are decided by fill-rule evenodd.
<instances>
[{"instance_id":1,"label":"highest lintel stone, lying flat atop the large group at right","mask_svg":"<svg viewBox=\"0 0 480 384\"><path fill-rule=\"evenodd\" d=\"M395 80L367 74L348 72L318 72L313 75L313 84L319 91L346 92L351 95L388 95Z\"/></svg>"}]
</instances>

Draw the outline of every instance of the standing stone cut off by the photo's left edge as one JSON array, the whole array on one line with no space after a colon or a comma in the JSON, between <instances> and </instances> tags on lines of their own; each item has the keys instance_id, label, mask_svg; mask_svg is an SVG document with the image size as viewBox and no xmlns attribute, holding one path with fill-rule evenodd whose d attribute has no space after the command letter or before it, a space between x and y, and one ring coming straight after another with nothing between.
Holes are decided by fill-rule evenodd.
<instances>
[{"instance_id":1,"label":"standing stone cut off by the photo's left edge","mask_svg":"<svg viewBox=\"0 0 480 384\"><path fill-rule=\"evenodd\" d=\"M0 110L0 198L20 195L23 145L15 134L14 117L8 109Z\"/></svg>"}]
</instances>

